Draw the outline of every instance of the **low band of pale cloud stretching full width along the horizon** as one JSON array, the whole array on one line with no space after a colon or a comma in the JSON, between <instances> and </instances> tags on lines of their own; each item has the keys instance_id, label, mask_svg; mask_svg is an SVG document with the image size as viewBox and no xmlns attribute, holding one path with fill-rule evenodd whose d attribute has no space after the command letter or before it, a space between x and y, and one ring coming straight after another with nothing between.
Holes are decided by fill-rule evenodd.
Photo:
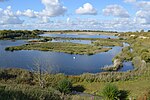
<instances>
[{"instance_id":1,"label":"low band of pale cloud stretching full width along the horizon","mask_svg":"<svg viewBox=\"0 0 150 100\"><path fill-rule=\"evenodd\" d=\"M68 19L68 18L67 18ZM68 23L63 19L56 19L49 23L24 23L0 25L0 29L90 29L90 30L106 30L106 31L136 31L141 29L149 29L150 24L140 24L134 21L134 18L114 18L110 20L94 19L94 18L71 18Z\"/></svg>"}]
</instances>

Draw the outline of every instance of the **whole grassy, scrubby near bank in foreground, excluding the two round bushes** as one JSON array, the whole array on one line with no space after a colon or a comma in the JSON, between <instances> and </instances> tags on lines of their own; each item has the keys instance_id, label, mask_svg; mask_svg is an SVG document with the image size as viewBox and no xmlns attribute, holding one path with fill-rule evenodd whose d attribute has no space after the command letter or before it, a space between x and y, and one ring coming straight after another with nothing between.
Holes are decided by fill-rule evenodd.
<instances>
[{"instance_id":1,"label":"whole grassy, scrubby near bank in foreground, excluding the two round bushes","mask_svg":"<svg viewBox=\"0 0 150 100\"><path fill-rule=\"evenodd\" d=\"M66 76L63 74L41 74L44 88L39 83L39 74L29 72L23 69L1 69L0 70L0 98L4 100L64 100L61 99L62 94L57 90L57 84L62 79L69 79L73 84L73 90L88 93L90 95L69 94L65 95L65 100L91 100L91 98L102 98L102 90L107 83L115 84L119 90L126 91L126 98L132 100L142 100L145 95L150 96L150 68L146 71L139 71L140 76L128 76L129 73L124 72L117 74L117 77L126 76L120 80L111 80L113 73L101 73L100 75L83 74L80 76ZM96 77L97 76L97 77ZM103 77L102 77L103 76ZM99 78L99 79L98 79ZM95 79L95 80L94 80ZM110 81L111 80L111 81ZM92 96L95 95L95 96ZM100 97L99 97L100 96ZM124 99L121 99L124 100Z\"/></svg>"}]
</instances>

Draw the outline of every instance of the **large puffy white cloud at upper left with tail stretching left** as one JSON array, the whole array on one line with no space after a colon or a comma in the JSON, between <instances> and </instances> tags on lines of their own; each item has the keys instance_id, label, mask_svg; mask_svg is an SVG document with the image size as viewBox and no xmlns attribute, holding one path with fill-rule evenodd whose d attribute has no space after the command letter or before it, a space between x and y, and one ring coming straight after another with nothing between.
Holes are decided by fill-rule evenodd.
<instances>
[{"instance_id":1,"label":"large puffy white cloud at upper left with tail stretching left","mask_svg":"<svg viewBox=\"0 0 150 100\"><path fill-rule=\"evenodd\" d=\"M45 8L42 11L34 11L31 9L27 9L24 11L17 11L16 15L26 16L31 18L41 18L41 17L55 17L64 15L67 11L67 8L64 7L59 0L41 0L42 4L44 4Z\"/></svg>"}]
</instances>

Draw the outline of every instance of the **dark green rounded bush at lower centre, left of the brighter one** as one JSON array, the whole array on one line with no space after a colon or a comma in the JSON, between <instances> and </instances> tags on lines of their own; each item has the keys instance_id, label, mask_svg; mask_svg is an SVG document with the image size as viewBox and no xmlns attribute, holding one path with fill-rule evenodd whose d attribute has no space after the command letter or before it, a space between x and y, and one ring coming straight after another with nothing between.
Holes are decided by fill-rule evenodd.
<instances>
[{"instance_id":1,"label":"dark green rounded bush at lower centre, left of the brighter one","mask_svg":"<svg viewBox=\"0 0 150 100\"><path fill-rule=\"evenodd\" d=\"M58 82L57 89L63 94L69 94L72 90L72 83L67 79L63 79Z\"/></svg>"}]
</instances>

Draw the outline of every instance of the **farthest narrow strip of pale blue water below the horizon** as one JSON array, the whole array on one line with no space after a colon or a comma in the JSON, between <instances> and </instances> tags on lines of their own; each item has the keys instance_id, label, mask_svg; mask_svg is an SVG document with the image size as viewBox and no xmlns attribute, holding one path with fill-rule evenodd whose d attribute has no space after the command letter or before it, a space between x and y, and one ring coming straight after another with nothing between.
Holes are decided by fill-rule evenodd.
<instances>
[{"instance_id":1,"label":"farthest narrow strip of pale blue water below the horizon","mask_svg":"<svg viewBox=\"0 0 150 100\"><path fill-rule=\"evenodd\" d=\"M112 35L85 35L85 34L41 34L45 37L64 37L64 38L118 38Z\"/></svg>"}]
</instances>

